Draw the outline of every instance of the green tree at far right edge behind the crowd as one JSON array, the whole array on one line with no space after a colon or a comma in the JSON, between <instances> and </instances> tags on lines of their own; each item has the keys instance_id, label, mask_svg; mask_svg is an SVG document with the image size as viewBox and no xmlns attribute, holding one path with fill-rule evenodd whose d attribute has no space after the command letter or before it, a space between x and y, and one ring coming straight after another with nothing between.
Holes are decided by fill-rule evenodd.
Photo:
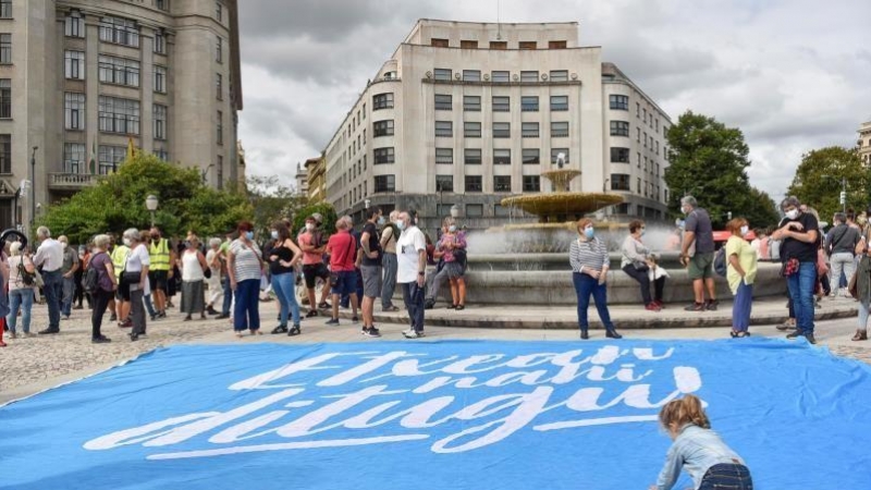
<instances>
[{"instance_id":1,"label":"green tree at far right edge behind the crowd","mask_svg":"<svg viewBox=\"0 0 871 490\"><path fill-rule=\"evenodd\" d=\"M847 183L846 207L861 210L868 204L870 177L856 149L830 146L801 156L787 193L817 209L820 219L829 221L835 211L844 209L841 204L843 180Z\"/></svg>"}]
</instances>

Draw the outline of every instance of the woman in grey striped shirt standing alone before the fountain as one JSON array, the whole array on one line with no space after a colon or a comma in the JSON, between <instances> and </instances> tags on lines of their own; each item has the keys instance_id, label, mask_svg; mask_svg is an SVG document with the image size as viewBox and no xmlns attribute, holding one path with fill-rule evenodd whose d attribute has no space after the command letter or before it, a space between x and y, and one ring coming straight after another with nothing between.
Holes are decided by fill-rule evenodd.
<instances>
[{"instance_id":1,"label":"woman in grey striped shirt standing alone before the fountain","mask_svg":"<svg viewBox=\"0 0 871 490\"><path fill-rule=\"evenodd\" d=\"M572 242L568 249L568 261L572 264L572 281L575 283L575 293L578 295L578 326L580 338L589 339L587 329L587 308L590 306L590 295L596 302L599 318L605 326L605 336L622 339L623 335L614 329L611 315L608 313L608 269L611 264L605 244L597 238L592 228L592 220L582 218L577 222L578 238Z\"/></svg>"}]
</instances>

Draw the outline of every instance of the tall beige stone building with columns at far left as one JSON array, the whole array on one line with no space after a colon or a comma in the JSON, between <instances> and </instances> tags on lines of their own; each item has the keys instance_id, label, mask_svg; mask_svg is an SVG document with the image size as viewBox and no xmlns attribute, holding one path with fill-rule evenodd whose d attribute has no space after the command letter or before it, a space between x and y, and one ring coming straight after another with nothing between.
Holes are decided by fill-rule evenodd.
<instances>
[{"instance_id":1,"label":"tall beige stone building with columns at far left","mask_svg":"<svg viewBox=\"0 0 871 490\"><path fill-rule=\"evenodd\" d=\"M0 0L0 228L91 185L131 140L216 187L237 180L236 13L236 0Z\"/></svg>"}]
</instances>

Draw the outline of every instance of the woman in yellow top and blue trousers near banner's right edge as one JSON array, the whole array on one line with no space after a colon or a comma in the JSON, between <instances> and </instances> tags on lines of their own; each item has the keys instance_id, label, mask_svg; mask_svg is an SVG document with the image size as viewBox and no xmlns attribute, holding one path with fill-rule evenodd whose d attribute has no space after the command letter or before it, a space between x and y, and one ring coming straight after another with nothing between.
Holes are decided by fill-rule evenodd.
<instances>
[{"instance_id":1,"label":"woman in yellow top and blue trousers near banner's right edge","mask_svg":"<svg viewBox=\"0 0 871 490\"><path fill-rule=\"evenodd\" d=\"M753 281L757 271L757 254L750 244L744 240L750 225L744 218L735 218L726 223L726 230L732 233L726 242L726 280L735 303L732 306L732 336L750 336L747 329L750 327L750 310L753 306Z\"/></svg>"}]
</instances>

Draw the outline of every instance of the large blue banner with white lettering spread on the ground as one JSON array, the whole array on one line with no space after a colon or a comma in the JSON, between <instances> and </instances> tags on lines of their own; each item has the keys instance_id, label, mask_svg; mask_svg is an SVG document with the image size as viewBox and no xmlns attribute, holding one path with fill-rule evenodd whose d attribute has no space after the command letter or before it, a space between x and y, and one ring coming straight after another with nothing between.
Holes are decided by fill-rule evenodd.
<instances>
[{"instance_id":1,"label":"large blue banner with white lettering spread on the ground","mask_svg":"<svg viewBox=\"0 0 871 490\"><path fill-rule=\"evenodd\" d=\"M871 488L871 368L764 339L173 346L0 408L0 488L647 489L686 393L757 490Z\"/></svg>"}]
</instances>

